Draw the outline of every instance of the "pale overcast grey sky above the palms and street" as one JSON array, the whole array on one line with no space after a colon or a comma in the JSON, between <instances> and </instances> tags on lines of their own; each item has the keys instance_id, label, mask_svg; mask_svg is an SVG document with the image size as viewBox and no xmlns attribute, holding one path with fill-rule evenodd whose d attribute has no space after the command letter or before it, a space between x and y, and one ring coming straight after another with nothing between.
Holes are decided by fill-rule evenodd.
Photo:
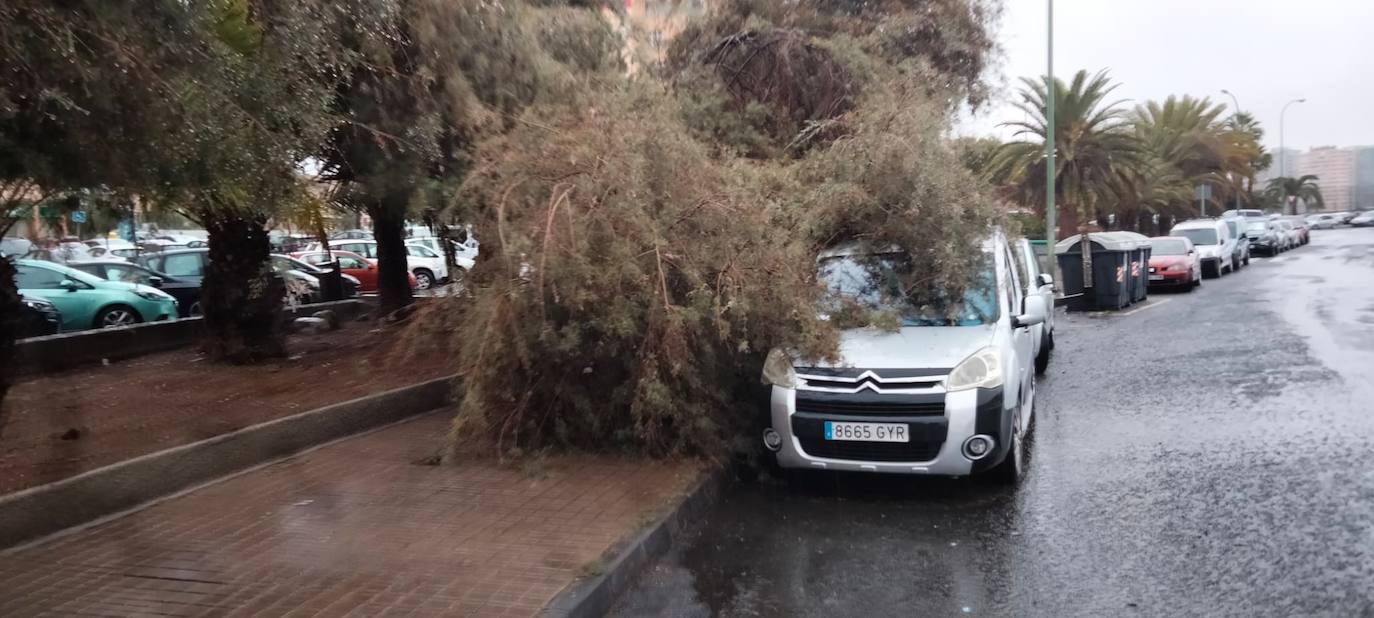
<instances>
[{"instance_id":1,"label":"pale overcast grey sky above the palms and street","mask_svg":"<svg viewBox=\"0 0 1374 618\"><path fill-rule=\"evenodd\" d=\"M1241 108L1286 146L1374 146L1374 0L1055 0L1054 69L1109 69L1118 98L1210 96ZM998 36L999 100L958 129L999 135L1020 119L1007 102L1021 76L1046 70L1046 0L1006 0Z\"/></svg>"}]
</instances>

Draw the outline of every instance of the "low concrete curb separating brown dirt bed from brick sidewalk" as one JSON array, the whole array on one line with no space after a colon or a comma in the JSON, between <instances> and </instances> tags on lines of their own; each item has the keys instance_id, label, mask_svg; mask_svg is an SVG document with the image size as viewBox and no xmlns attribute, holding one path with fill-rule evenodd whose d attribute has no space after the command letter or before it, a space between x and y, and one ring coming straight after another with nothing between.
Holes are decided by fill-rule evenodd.
<instances>
[{"instance_id":1,"label":"low concrete curb separating brown dirt bed from brick sidewalk","mask_svg":"<svg viewBox=\"0 0 1374 618\"><path fill-rule=\"evenodd\" d=\"M456 376L376 393L0 496L0 548L78 526L180 489L441 408Z\"/></svg>"}]
</instances>

